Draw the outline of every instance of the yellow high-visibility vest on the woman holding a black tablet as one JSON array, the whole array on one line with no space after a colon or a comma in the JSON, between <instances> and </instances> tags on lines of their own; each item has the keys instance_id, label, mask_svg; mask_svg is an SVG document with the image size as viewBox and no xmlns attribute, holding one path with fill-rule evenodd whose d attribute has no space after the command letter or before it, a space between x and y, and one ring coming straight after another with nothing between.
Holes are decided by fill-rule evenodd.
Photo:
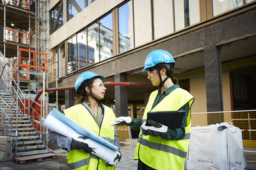
<instances>
[{"instance_id":1,"label":"yellow high-visibility vest on the woman holding a black tablet","mask_svg":"<svg viewBox=\"0 0 256 170\"><path fill-rule=\"evenodd\" d=\"M184 169L191 129L190 108L194 97L186 90L177 88L168 94L168 96L164 97L151 110L157 93L158 90L150 94L142 122L147 120L148 111L177 111L186 103L189 103L188 125L185 127L185 136L181 140L166 140L160 136L141 136L140 132L134 159L140 159L144 164L154 169Z\"/></svg>"}]
</instances>

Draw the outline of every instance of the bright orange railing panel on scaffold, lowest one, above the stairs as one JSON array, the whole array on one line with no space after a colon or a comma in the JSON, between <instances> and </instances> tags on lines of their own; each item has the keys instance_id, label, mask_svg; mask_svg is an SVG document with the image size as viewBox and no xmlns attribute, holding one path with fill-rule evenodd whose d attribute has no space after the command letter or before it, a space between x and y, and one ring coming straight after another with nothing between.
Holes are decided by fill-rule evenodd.
<instances>
[{"instance_id":1,"label":"bright orange railing panel on scaffold, lowest one, above the stairs","mask_svg":"<svg viewBox=\"0 0 256 170\"><path fill-rule=\"evenodd\" d=\"M19 48L19 66L23 68L48 69L47 53Z\"/></svg>"}]
</instances>

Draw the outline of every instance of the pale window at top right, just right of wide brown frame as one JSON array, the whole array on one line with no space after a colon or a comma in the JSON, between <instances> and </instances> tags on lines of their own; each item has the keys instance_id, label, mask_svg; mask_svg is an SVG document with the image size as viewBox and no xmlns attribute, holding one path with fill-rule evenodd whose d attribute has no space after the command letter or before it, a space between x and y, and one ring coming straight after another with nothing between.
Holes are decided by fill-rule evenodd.
<instances>
[{"instance_id":1,"label":"pale window at top right, just right of wide brown frame","mask_svg":"<svg viewBox=\"0 0 256 170\"><path fill-rule=\"evenodd\" d=\"M212 0L212 14L219 15L243 5L243 0Z\"/></svg>"}]
</instances>

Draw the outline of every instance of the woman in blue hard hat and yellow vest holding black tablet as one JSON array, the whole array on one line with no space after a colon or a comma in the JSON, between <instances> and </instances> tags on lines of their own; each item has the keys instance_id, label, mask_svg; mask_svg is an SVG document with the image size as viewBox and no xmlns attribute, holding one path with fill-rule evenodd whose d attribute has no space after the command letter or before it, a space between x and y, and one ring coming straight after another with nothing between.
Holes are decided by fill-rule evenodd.
<instances>
[{"instance_id":1,"label":"woman in blue hard hat and yellow vest holding black tablet","mask_svg":"<svg viewBox=\"0 0 256 170\"><path fill-rule=\"evenodd\" d=\"M134 159L138 169L184 169L188 152L191 129L190 108L194 97L179 87L173 77L175 61L165 50L154 50L145 59L143 72L148 80L159 89L152 92L148 99L142 120L131 117L118 117L116 124L132 125L140 131ZM182 125L171 129L166 125L148 120L149 111L185 111Z\"/></svg>"}]
</instances>

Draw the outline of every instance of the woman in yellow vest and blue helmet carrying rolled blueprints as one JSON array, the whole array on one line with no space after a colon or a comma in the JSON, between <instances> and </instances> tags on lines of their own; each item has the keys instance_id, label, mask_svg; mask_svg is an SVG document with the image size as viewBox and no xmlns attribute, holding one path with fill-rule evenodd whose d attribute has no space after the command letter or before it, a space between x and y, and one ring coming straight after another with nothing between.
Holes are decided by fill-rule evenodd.
<instances>
[{"instance_id":1,"label":"woman in yellow vest and blue helmet carrying rolled blueprints","mask_svg":"<svg viewBox=\"0 0 256 170\"><path fill-rule=\"evenodd\" d=\"M78 76L75 84L76 105L63 110L63 114L119 148L116 129L110 125L111 122L115 122L115 115L111 108L100 102L106 92L104 81L103 76L90 71ZM54 131L49 132L49 142L57 143L67 150L70 169L115 169L115 164L121 159L120 151L116 151L117 156L113 162L106 162L91 154L94 146L92 143L86 143L86 136L79 138L85 140L67 138Z\"/></svg>"}]
</instances>

